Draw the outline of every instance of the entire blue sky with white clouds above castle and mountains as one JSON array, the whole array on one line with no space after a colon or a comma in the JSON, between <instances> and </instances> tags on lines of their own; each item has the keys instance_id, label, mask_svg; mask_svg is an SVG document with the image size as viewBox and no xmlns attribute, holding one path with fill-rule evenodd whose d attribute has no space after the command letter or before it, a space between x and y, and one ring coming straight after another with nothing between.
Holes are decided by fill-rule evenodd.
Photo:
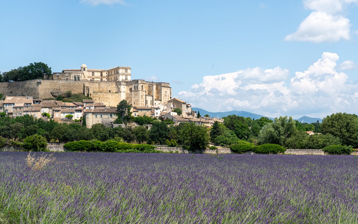
<instances>
[{"instance_id":1,"label":"entire blue sky with white clouds above castle and mountains","mask_svg":"<svg viewBox=\"0 0 358 224\"><path fill-rule=\"evenodd\" d=\"M130 65L208 111L358 109L358 0L1 1L0 71Z\"/></svg>"}]
</instances>

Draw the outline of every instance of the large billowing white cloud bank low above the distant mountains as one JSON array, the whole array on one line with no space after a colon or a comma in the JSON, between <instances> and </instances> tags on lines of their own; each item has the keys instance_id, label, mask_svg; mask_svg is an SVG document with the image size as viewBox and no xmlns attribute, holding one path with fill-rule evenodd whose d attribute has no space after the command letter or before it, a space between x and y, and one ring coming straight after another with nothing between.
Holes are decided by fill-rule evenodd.
<instances>
[{"instance_id":1,"label":"large billowing white cloud bank low above the distant mountains","mask_svg":"<svg viewBox=\"0 0 358 224\"><path fill-rule=\"evenodd\" d=\"M289 71L280 67L204 76L202 83L181 91L178 97L213 112L245 110L267 116L321 118L337 112L356 113L358 85L350 84L348 75L336 70L338 59L337 54L325 52L291 79Z\"/></svg>"}]
</instances>

